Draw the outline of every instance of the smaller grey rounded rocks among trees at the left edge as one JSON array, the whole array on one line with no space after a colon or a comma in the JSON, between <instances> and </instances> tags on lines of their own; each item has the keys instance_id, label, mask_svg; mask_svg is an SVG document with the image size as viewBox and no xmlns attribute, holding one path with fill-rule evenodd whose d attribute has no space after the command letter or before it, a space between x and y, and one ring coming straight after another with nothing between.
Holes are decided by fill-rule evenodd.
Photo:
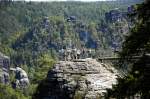
<instances>
[{"instance_id":1,"label":"smaller grey rounded rocks among trees at the left edge","mask_svg":"<svg viewBox=\"0 0 150 99\"><path fill-rule=\"evenodd\" d=\"M10 82L10 71L15 73L15 82ZM13 88L26 88L29 85L27 73L20 67L10 68L10 58L0 52L0 83L12 84Z\"/></svg>"}]
</instances>

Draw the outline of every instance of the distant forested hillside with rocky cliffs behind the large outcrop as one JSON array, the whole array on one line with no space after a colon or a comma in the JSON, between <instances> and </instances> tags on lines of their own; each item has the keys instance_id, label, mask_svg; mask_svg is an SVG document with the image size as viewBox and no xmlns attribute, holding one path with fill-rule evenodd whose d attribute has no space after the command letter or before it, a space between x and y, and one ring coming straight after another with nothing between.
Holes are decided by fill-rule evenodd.
<instances>
[{"instance_id":1,"label":"distant forested hillside with rocky cliffs behind the large outcrop","mask_svg":"<svg viewBox=\"0 0 150 99\"><path fill-rule=\"evenodd\" d=\"M12 66L20 65L29 74L51 65L68 46L110 55L120 49L128 31L127 8L136 3L0 2L0 51L11 57Z\"/></svg>"}]
</instances>

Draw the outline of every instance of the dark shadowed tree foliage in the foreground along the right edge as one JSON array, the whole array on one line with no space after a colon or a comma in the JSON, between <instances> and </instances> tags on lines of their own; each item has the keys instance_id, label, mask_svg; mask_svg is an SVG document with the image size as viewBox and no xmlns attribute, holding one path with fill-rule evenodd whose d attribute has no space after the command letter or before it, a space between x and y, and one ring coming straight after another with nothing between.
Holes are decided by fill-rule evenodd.
<instances>
[{"instance_id":1,"label":"dark shadowed tree foliage in the foreground along the right edge","mask_svg":"<svg viewBox=\"0 0 150 99\"><path fill-rule=\"evenodd\" d=\"M131 30L131 34L126 38L121 55L121 66L126 62L131 64L131 71L124 78L118 79L118 84L112 90L108 90L108 97L122 99L125 97L140 95L141 99L150 98L150 29L149 29L149 1L135 6L137 21ZM140 56L133 61L132 58Z\"/></svg>"}]
</instances>

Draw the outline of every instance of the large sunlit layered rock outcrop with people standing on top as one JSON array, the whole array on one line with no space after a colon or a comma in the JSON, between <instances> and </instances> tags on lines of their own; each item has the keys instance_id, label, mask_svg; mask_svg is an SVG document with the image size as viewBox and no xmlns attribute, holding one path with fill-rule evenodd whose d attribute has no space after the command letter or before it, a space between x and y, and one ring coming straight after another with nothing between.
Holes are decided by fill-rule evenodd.
<instances>
[{"instance_id":1,"label":"large sunlit layered rock outcrop with people standing on top","mask_svg":"<svg viewBox=\"0 0 150 99\"><path fill-rule=\"evenodd\" d=\"M117 75L115 68L95 59L59 61L39 85L35 98L96 99L116 84Z\"/></svg>"}]
</instances>

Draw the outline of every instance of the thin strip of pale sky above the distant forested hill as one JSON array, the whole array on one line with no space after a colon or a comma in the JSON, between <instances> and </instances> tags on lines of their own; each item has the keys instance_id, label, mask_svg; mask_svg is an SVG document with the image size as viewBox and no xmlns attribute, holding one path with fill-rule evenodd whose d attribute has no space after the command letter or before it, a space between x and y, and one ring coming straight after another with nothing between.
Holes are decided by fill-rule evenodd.
<instances>
[{"instance_id":1,"label":"thin strip of pale sky above the distant forested hill","mask_svg":"<svg viewBox=\"0 0 150 99\"><path fill-rule=\"evenodd\" d=\"M14 1L22 1L22 0L14 0ZM94 1L115 1L115 0L23 0L23 1L83 1L83 2L94 2Z\"/></svg>"}]
</instances>

